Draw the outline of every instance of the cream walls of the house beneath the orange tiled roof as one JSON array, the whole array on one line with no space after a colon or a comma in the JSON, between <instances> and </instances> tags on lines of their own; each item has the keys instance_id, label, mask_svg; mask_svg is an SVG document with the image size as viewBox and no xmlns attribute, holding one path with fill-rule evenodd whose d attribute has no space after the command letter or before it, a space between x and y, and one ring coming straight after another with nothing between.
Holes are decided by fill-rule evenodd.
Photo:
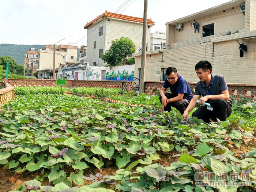
<instances>
[{"instance_id":1,"label":"cream walls of the house beneath the orange tiled roof","mask_svg":"<svg viewBox=\"0 0 256 192\"><path fill-rule=\"evenodd\" d=\"M109 21L108 21L109 20ZM99 36L99 27L103 26L103 35ZM103 53L108 50L112 44L111 41L120 39L121 37L130 38L136 45L138 51L142 46L142 23L117 20L112 18L102 18L87 28L87 61L92 66L93 62L101 67L105 66L103 60L99 58L99 49L103 49ZM148 44L150 44L150 27L147 28ZM96 48L94 49L94 42ZM148 45L148 50L150 46Z\"/></svg>"}]
</instances>

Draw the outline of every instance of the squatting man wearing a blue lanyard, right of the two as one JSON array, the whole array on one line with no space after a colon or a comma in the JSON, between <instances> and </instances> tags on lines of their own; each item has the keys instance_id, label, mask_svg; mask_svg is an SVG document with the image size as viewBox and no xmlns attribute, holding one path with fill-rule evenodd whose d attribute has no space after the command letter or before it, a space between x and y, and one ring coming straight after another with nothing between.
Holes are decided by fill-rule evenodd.
<instances>
[{"instance_id":1,"label":"squatting man wearing a blue lanyard, right of the two","mask_svg":"<svg viewBox=\"0 0 256 192\"><path fill-rule=\"evenodd\" d=\"M197 82L193 99L182 117L188 118L188 112L195 108L196 101L202 95L198 102L202 106L192 116L200 118L206 123L209 123L210 119L217 120L217 118L225 121L232 110L232 101L229 97L225 78L221 75L212 75L212 66L208 61L199 61L195 70L200 81ZM210 103L211 107L204 105L205 102Z\"/></svg>"}]
</instances>

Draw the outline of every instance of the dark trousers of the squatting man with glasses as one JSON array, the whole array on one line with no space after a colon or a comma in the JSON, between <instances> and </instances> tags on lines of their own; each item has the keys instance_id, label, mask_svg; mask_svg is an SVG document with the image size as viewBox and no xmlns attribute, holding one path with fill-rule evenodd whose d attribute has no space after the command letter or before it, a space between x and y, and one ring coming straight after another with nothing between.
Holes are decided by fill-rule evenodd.
<instances>
[{"instance_id":1,"label":"dark trousers of the squatting man with glasses","mask_svg":"<svg viewBox=\"0 0 256 192\"><path fill-rule=\"evenodd\" d=\"M167 97L167 99L173 98L173 97L177 97L178 95L176 94L170 94L170 93L165 93L165 97ZM159 96L160 102L162 104L162 96ZM182 99L181 101L176 101L173 103L167 103L167 105L164 107L165 111L171 111L172 107L175 107L176 109L178 109L180 111L180 114L183 114L184 111L187 109L187 106L189 104L189 101L187 99Z\"/></svg>"}]
</instances>

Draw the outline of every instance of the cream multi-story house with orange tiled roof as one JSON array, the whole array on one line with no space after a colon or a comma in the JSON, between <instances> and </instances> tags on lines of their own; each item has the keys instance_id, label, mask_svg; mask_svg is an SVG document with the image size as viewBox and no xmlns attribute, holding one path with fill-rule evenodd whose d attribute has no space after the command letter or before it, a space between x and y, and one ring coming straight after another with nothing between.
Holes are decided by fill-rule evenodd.
<instances>
[{"instance_id":1,"label":"cream multi-story house with orange tiled roof","mask_svg":"<svg viewBox=\"0 0 256 192\"><path fill-rule=\"evenodd\" d=\"M147 39L150 44L150 28L154 26L147 19ZM121 37L130 38L137 50L142 47L143 18L115 14L106 11L84 26L87 29L87 61L89 65L104 66L101 54L110 48L111 41ZM150 49L150 46L147 48Z\"/></svg>"}]
</instances>

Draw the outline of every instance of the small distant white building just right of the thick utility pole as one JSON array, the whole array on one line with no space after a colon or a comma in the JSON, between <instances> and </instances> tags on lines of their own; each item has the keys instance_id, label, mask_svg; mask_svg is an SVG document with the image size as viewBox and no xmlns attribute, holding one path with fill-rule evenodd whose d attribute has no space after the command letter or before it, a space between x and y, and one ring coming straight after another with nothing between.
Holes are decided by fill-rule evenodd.
<instances>
[{"instance_id":1,"label":"small distant white building just right of the thick utility pole","mask_svg":"<svg viewBox=\"0 0 256 192\"><path fill-rule=\"evenodd\" d=\"M150 50L166 49L165 33L155 32L150 34Z\"/></svg>"}]
</instances>

